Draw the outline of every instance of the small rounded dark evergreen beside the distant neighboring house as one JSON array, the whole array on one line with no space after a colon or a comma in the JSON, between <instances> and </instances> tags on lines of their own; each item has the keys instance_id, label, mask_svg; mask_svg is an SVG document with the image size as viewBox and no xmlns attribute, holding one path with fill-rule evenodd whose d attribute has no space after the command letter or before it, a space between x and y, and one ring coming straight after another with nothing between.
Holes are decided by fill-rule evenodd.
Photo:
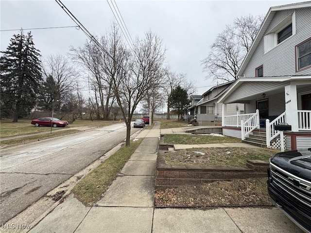
<instances>
[{"instance_id":1,"label":"small rounded dark evergreen beside the distant neighboring house","mask_svg":"<svg viewBox=\"0 0 311 233\"><path fill-rule=\"evenodd\" d=\"M171 108L178 114L178 120L180 119L180 114L184 114L187 107L189 106L190 100L188 99L188 93L186 89L183 89L178 85L169 97L169 102Z\"/></svg>"}]
</instances>

